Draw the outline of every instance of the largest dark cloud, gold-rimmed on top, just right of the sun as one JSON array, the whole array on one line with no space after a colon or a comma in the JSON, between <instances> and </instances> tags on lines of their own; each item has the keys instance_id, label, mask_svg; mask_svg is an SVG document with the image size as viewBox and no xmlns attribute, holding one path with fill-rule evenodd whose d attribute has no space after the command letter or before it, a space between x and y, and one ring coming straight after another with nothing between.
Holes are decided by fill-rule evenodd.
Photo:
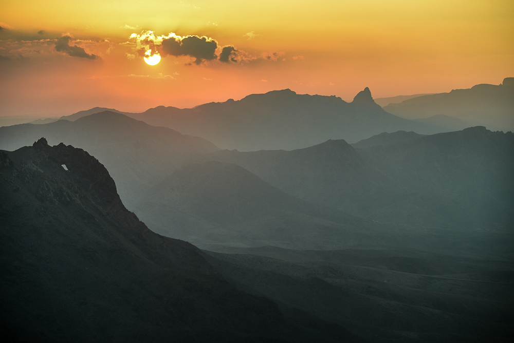
<instances>
[{"instance_id":1,"label":"largest dark cloud, gold-rimmed on top, just right of the sun","mask_svg":"<svg viewBox=\"0 0 514 343\"><path fill-rule=\"evenodd\" d=\"M195 58L195 64L201 64L204 61L211 61L217 58L215 50L218 43L206 36L171 37L162 40L161 46L161 52L164 55L191 56Z\"/></svg>"}]
</instances>

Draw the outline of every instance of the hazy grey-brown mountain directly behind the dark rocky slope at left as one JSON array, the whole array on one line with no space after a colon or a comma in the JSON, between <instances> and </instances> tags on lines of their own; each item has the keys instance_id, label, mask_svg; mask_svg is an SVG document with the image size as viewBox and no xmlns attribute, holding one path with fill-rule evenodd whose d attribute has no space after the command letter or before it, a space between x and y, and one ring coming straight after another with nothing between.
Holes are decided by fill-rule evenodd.
<instances>
[{"instance_id":1,"label":"hazy grey-brown mountain directly behind the dark rocky slope at left","mask_svg":"<svg viewBox=\"0 0 514 343\"><path fill-rule=\"evenodd\" d=\"M103 163L113 176L123 203L132 208L135 199L168 176L191 155L215 151L212 143L155 127L120 113L103 111L76 121L22 124L0 128L0 149L15 150L45 137L83 148Z\"/></svg>"}]
</instances>

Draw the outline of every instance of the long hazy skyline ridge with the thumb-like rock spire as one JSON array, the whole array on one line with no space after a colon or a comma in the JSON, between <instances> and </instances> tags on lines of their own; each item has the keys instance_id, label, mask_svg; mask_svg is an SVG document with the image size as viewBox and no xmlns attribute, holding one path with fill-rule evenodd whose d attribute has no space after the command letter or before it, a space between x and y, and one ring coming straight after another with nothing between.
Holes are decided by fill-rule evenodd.
<instances>
[{"instance_id":1,"label":"long hazy skyline ridge with the thumb-like rock spire","mask_svg":"<svg viewBox=\"0 0 514 343\"><path fill-rule=\"evenodd\" d=\"M298 149L327 139L357 142L384 131L446 131L391 115L373 101L368 88L351 103L334 96L310 96L285 89L194 108L159 106L130 116L242 151Z\"/></svg>"}]
</instances>

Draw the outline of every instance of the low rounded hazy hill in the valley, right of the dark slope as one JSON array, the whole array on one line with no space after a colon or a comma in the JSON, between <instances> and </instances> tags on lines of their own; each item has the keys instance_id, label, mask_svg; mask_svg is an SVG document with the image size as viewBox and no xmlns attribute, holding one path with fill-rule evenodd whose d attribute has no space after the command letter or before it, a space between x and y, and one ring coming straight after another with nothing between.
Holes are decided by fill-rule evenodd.
<instances>
[{"instance_id":1,"label":"low rounded hazy hill in the valley, right of the dark slope","mask_svg":"<svg viewBox=\"0 0 514 343\"><path fill-rule=\"evenodd\" d=\"M157 233L192 243L320 248L365 220L321 209L241 166L191 164L150 189L135 211Z\"/></svg>"}]
</instances>

